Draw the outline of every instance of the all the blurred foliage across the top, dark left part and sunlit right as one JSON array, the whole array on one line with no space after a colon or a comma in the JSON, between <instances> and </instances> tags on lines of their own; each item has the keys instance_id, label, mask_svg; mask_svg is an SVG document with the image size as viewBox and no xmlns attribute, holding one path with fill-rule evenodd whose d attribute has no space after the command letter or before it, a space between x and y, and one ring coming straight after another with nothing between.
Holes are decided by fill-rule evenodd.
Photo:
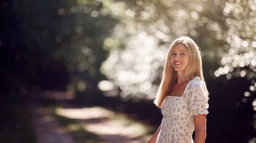
<instances>
[{"instance_id":1,"label":"all the blurred foliage across the top, dark left part and sunlit right","mask_svg":"<svg viewBox=\"0 0 256 143\"><path fill-rule=\"evenodd\" d=\"M184 35L201 48L206 79L256 77L252 0L34 0L15 6L41 48L66 65L68 90L97 90L105 75L125 100L151 100L170 43ZM116 87L107 95L119 95Z\"/></svg>"}]
</instances>

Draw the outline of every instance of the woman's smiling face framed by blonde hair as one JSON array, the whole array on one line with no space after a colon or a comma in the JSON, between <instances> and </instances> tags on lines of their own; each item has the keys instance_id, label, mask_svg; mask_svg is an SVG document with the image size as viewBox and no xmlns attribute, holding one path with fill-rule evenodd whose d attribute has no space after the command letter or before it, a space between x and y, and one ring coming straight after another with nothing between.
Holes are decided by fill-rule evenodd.
<instances>
[{"instance_id":1,"label":"woman's smiling face framed by blonde hair","mask_svg":"<svg viewBox=\"0 0 256 143\"><path fill-rule=\"evenodd\" d=\"M189 64L190 56L185 45L177 44L172 49L171 63L174 70L183 72Z\"/></svg>"}]
</instances>

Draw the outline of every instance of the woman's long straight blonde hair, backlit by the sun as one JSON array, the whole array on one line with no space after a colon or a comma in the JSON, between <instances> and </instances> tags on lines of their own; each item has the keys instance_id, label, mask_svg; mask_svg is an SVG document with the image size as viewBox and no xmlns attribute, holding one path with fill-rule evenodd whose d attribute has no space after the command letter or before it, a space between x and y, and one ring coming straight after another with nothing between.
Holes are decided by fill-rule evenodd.
<instances>
[{"instance_id":1,"label":"woman's long straight blonde hair, backlit by the sun","mask_svg":"<svg viewBox=\"0 0 256 143\"><path fill-rule=\"evenodd\" d=\"M164 99L171 93L174 85L177 83L178 80L177 71L173 69L170 60L172 50L177 44L183 44L186 47L186 50L188 51L190 56L189 64L184 72L186 80L190 81L198 76L204 85L205 92L207 93L207 95L209 94L204 81L202 58L199 47L191 38L187 36L182 36L175 39L169 47L166 63L163 70L162 80L157 91L157 96L154 100L154 104L156 104L158 108L162 107Z\"/></svg>"}]
</instances>

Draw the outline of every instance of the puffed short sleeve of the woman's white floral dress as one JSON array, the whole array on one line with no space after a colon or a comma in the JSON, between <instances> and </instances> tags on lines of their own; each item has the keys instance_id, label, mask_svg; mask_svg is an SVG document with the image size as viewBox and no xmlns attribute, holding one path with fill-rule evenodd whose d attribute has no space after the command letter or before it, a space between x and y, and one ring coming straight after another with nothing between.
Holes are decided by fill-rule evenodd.
<instances>
[{"instance_id":1,"label":"puffed short sleeve of the woman's white floral dress","mask_svg":"<svg viewBox=\"0 0 256 143\"><path fill-rule=\"evenodd\" d=\"M201 81L195 80L190 83L187 97L187 103L189 106L189 114L192 116L198 114L208 114L208 96L204 91Z\"/></svg>"}]
</instances>

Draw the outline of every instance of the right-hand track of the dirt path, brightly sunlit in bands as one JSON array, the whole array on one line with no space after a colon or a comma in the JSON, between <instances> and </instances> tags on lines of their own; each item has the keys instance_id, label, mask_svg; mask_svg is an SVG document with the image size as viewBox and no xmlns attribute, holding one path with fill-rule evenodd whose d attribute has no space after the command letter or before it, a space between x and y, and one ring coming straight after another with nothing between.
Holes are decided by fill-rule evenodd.
<instances>
[{"instance_id":1,"label":"right-hand track of the dirt path, brightly sunlit in bands","mask_svg":"<svg viewBox=\"0 0 256 143\"><path fill-rule=\"evenodd\" d=\"M136 127L125 127L118 121L111 121L93 108L75 109L70 104L59 102L65 109L67 118L73 118L85 124L87 131L93 132L108 143L146 143L145 138L137 134ZM108 113L107 113L108 114Z\"/></svg>"}]
</instances>

